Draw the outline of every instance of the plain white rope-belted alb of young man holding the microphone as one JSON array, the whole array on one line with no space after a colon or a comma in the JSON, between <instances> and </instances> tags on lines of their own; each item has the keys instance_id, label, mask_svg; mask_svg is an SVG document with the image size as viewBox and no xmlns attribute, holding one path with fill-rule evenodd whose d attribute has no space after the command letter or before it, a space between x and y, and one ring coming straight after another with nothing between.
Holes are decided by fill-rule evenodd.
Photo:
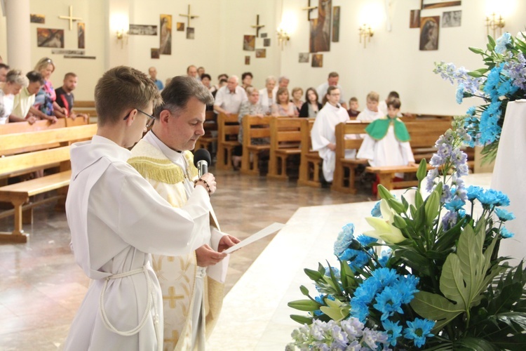
<instances>
[{"instance_id":1,"label":"plain white rope-belted alb of young man holding the microphone","mask_svg":"<svg viewBox=\"0 0 526 351\"><path fill-rule=\"evenodd\" d=\"M65 350L159 350L163 296L150 253L185 255L205 243L196 234L212 209L205 188L173 208L129 158L99 135L71 147L67 221L76 263L93 282Z\"/></svg>"}]
</instances>

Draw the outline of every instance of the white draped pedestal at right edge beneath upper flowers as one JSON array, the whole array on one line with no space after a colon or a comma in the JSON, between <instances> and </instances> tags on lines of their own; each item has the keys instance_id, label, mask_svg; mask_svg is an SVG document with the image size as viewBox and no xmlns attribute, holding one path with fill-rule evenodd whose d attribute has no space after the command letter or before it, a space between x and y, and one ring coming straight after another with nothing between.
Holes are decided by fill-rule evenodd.
<instances>
[{"instance_id":1,"label":"white draped pedestal at right edge beneath upper flowers","mask_svg":"<svg viewBox=\"0 0 526 351\"><path fill-rule=\"evenodd\" d=\"M518 264L526 256L526 99L508 102L492 176L492 188L508 195L515 219L506 228L515 234L502 240L500 256Z\"/></svg>"}]
</instances>

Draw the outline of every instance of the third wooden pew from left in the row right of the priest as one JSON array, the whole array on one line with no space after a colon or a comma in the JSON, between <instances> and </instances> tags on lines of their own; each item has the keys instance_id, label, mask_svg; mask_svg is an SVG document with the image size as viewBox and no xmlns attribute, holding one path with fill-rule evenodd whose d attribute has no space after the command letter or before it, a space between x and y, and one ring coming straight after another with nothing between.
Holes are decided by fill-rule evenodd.
<instances>
[{"instance_id":1,"label":"third wooden pew from left in the row right of the priest","mask_svg":"<svg viewBox=\"0 0 526 351\"><path fill-rule=\"evenodd\" d=\"M278 117L270 122L270 159L267 178L287 180L287 160L301 155L302 119Z\"/></svg>"}]
</instances>

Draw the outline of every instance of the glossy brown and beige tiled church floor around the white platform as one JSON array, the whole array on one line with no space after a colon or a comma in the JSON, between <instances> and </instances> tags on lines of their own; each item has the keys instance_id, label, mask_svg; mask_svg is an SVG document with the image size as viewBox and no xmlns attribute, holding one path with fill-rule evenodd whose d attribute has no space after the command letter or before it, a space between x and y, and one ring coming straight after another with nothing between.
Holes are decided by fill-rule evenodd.
<instances>
[{"instance_id":1,"label":"glossy brown and beige tiled church floor around the white platform","mask_svg":"<svg viewBox=\"0 0 526 351\"><path fill-rule=\"evenodd\" d=\"M212 171L214 171L212 169ZM217 171L213 206L224 232L244 239L274 222L286 223L301 206L367 201L370 192L341 194ZM313 213L316 216L316 213ZM35 209L28 244L0 244L0 350L58 350L88 286L69 251L64 213L53 204ZM0 220L11 230L13 218ZM227 291L269 244L272 235L231 255ZM276 258L278 260L278 258ZM282 263L280 263L282 264ZM274 267L269 267L274 269Z\"/></svg>"}]
</instances>

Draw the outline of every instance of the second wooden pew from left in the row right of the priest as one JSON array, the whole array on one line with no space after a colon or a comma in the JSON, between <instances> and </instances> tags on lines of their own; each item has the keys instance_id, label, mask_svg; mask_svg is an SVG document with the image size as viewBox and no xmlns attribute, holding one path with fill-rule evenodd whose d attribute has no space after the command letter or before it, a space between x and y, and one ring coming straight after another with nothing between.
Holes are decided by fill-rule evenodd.
<instances>
[{"instance_id":1,"label":"second wooden pew from left in the row right of the priest","mask_svg":"<svg viewBox=\"0 0 526 351\"><path fill-rule=\"evenodd\" d=\"M244 116L243 121L243 155L241 173L259 176L259 154L270 150L270 121L276 117ZM267 138L268 144L255 144L254 139Z\"/></svg>"}]
</instances>

